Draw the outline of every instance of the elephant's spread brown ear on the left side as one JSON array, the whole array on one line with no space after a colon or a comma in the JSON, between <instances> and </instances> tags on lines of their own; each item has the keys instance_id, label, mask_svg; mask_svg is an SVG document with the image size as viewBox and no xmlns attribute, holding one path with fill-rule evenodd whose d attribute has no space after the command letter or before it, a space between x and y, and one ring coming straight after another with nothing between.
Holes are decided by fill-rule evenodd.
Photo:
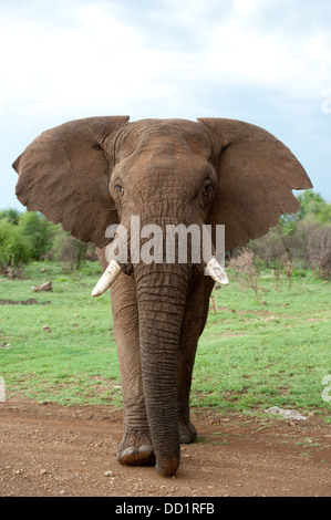
<instances>
[{"instance_id":1,"label":"elephant's spread brown ear on the left side","mask_svg":"<svg viewBox=\"0 0 331 520\"><path fill-rule=\"evenodd\" d=\"M117 214L105 179L112 157L104 143L127 122L128 116L89 117L41 134L12 165L18 199L74 237L106 246L105 230Z\"/></svg>"}]
</instances>

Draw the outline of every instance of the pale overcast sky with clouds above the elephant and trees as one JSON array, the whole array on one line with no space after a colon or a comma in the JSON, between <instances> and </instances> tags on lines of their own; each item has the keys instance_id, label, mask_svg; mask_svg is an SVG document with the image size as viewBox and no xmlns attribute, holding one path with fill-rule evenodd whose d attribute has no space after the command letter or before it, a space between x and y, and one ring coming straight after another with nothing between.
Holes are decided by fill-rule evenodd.
<instances>
[{"instance_id":1,"label":"pale overcast sky with clouds above the elephant and trees","mask_svg":"<svg viewBox=\"0 0 331 520\"><path fill-rule=\"evenodd\" d=\"M94 115L254 123L331 202L330 0L0 0L0 209L30 142Z\"/></svg>"}]
</instances>

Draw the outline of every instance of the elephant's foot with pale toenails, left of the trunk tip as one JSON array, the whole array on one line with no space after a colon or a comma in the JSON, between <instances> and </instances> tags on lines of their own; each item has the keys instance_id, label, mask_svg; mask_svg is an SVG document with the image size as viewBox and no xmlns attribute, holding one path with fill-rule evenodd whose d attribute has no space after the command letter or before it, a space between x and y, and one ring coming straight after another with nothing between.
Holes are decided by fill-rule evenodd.
<instances>
[{"instance_id":1,"label":"elephant's foot with pale toenails, left of the trunk tip","mask_svg":"<svg viewBox=\"0 0 331 520\"><path fill-rule=\"evenodd\" d=\"M155 454L149 437L137 431L125 433L116 460L125 466L154 466Z\"/></svg>"}]
</instances>

